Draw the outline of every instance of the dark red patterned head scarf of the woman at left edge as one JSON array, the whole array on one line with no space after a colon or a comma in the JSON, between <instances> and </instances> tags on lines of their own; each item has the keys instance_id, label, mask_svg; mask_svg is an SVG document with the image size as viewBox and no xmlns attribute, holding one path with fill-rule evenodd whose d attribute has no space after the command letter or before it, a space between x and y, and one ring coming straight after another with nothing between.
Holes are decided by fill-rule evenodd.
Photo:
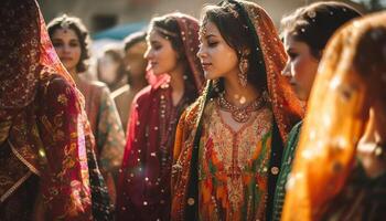
<instances>
[{"instance_id":1,"label":"dark red patterned head scarf of the woman at left edge","mask_svg":"<svg viewBox=\"0 0 386 221\"><path fill-rule=\"evenodd\" d=\"M0 14L0 109L28 106L35 97L43 69L62 75L75 86L52 46L34 0L3 0ZM3 112L0 119L7 118Z\"/></svg>"}]
</instances>

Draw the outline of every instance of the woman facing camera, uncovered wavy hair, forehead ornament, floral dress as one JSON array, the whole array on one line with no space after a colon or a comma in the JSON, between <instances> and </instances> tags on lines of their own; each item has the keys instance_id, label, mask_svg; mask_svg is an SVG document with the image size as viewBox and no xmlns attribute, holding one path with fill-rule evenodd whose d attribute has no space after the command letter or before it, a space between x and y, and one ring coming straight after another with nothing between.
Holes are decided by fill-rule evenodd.
<instances>
[{"instance_id":1,"label":"woman facing camera, uncovered wavy hair, forehead ornament, floral dress","mask_svg":"<svg viewBox=\"0 0 386 221\"><path fill-rule=\"evenodd\" d=\"M118 173L122 159L125 134L108 87L100 82L89 82L79 76L87 70L88 32L79 19L67 15L55 18L47 29L58 57L85 97L87 118L96 141L94 151L111 201L115 202L112 175Z\"/></svg>"}]
</instances>

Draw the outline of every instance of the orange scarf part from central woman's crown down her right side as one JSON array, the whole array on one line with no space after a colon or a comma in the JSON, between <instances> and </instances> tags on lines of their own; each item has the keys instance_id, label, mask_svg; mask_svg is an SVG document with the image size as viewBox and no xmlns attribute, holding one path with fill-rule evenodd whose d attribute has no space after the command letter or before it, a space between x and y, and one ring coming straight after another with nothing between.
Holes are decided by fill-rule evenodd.
<instances>
[{"instance_id":1,"label":"orange scarf part from central woman's crown down her right side","mask_svg":"<svg viewBox=\"0 0 386 221\"><path fill-rule=\"evenodd\" d=\"M286 141L291 126L302 118L303 108L288 80L281 75L287 54L274 22L268 13L254 2L228 0L219 4L233 4L254 36L255 46L251 51L256 53L257 61L250 62L258 63L256 74L266 75L275 119L280 136Z\"/></svg>"}]
</instances>

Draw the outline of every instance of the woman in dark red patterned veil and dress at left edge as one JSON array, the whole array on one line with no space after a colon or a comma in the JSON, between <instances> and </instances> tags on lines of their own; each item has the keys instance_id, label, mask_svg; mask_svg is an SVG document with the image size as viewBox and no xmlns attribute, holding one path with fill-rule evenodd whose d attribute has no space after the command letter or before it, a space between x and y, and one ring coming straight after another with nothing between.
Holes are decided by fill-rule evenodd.
<instances>
[{"instance_id":1,"label":"woman in dark red patterned veil and dress at left edge","mask_svg":"<svg viewBox=\"0 0 386 221\"><path fill-rule=\"evenodd\" d=\"M35 1L0 14L0 220L93 220L82 94Z\"/></svg>"}]
</instances>

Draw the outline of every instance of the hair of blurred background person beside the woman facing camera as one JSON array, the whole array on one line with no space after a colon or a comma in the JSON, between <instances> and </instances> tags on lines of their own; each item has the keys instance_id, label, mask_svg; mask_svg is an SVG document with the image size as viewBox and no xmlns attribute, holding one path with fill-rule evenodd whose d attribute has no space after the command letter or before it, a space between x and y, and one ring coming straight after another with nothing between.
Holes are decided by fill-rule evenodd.
<instances>
[{"instance_id":1,"label":"hair of blurred background person beside the woman facing camera","mask_svg":"<svg viewBox=\"0 0 386 221\"><path fill-rule=\"evenodd\" d=\"M114 46L107 46L104 49L103 56L111 56L114 62L117 62L119 64L118 70L117 70L117 75L115 81L112 82L111 85L109 85L109 87L114 87L116 83L120 82L125 76L126 76L126 69L125 69L125 62L124 62L124 55L121 52L121 49L119 48L114 48ZM99 60L97 63L97 74L98 74L98 78L100 80L100 71L99 71Z\"/></svg>"}]
</instances>

